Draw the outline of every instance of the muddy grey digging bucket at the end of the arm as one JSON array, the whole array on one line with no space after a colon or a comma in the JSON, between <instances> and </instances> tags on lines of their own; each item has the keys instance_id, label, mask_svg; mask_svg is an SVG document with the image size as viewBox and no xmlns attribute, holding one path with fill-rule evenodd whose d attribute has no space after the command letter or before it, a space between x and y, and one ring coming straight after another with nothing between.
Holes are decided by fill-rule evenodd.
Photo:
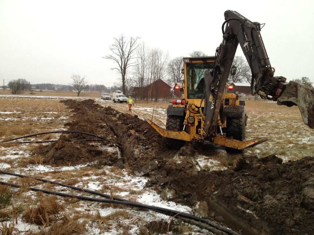
<instances>
[{"instance_id":1,"label":"muddy grey digging bucket at the end of the arm","mask_svg":"<svg viewBox=\"0 0 314 235\"><path fill-rule=\"evenodd\" d=\"M287 84L282 95L277 99L278 105L299 107L303 122L314 128L314 87L295 81Z\"/></svg>"}]
</instances>

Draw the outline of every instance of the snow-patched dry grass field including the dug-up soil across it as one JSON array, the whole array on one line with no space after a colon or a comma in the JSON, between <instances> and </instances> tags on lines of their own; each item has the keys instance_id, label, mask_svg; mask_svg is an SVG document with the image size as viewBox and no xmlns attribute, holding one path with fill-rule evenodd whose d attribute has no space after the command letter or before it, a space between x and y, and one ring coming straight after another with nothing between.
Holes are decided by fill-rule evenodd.
<instances>
[{"instance_id":1,"label":"snow-patched dry grass field including the dug-up soil across it","mask_svg":"<svg viewBox=\"0 0 314 235\"><path fill-rule=\"evenodd\" d=\"M126 104L99 98L61 100L64 98L1 96L0 140L56 130L76 130L105 137L111 142L81 141L80 134L53 133L23 141L57 139L55 143L0 143L3 170L99 191L110 197L189 212L241 230L242 234L259 234L261 231L277 234L277 228L273 227L278 224L285 227L281 230L283 234L311 229L309 223L312 223L313 214L310 205L314 195L309 187L313 186L310 178L314 161L308 156L314 155L314 130L303 123L297 107L247 100L246 137L267 137L268 141L245 149L242 154L228 154L221 146L206 143L187 144L179 151L166 149L162 138L143 120L153 116L153 121L164 127L167 102L136 102L131 116L127 114ZM295 161L297 159L302 160ZM299 181L290 182L285 194L284 190L278 190L285 187L286 178L291 177L289 172L297 174ZM242 186L234 184L237 180L240 180L237 185ZM0 185L1 231L9 230L11 226L13 233L24 234L167 234L165 227L170 217L157 212L28 191L32 186L90 196L86 192L30 178L2 174L0 181L21 186L19 190L5 193L11 188ZM304 186L300 187L300 184ZM257 185L261 188L257 189ZM296 196L287 199L286 195L291 194L288 189ZM298 191L302 191L300 195L306 195L302 197L303 201L299 200ZM13 197L10 202L3 203L2 195ZM276 195L280 196L277 198ZM223 198L235 203L237 209L233 212L243 219L240 227L234 225L228 213L219 214L215 210L215 203L223 205ZM277 200L277 204L292 203L290 207L294 211L284 209L278 212L276 202L272 200ZM298 207L293 200L303 207ZM266 207L260 208L261 204ZM265 217L265 210L269 219ZM294 214L294 224L288 214ZM279 218L283 217L284 222L280 222ZM180 220L174 219L172 223L169 234L208 234L206 230ZM279 225L278 229L283 229Z\"/></svg>"}]
</instances>

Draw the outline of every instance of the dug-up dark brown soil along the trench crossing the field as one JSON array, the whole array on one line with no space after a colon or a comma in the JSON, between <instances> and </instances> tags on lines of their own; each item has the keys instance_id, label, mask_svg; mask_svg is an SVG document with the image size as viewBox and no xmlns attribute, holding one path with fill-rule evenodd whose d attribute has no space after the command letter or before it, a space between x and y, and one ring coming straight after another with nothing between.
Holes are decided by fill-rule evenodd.
<instances>
[{"instance_id":1,"label":"dug-up dark brown soil along the trench crossing the field","mask_svg":"<svg viewBox=\"0 0 314 235\"><path fill-rule=\"evenodd\" d=\"M68 130L93 133L112 142L62 135L56 143L37 149L47 164L99 161L128 167L137 176L149 177L147 187L161 194L165 189L171 192L169 200L189 206L206 202L209 217L242 234L313 234L314 157L282 163L275 155L262 159L235 155L228 170L197 170L188 158L175 160L178 151L167 149L163 138L137 116L93 100L62 102L73 109L72 121L65 125ZM116 145L122 156L108 150ZM190 144L179 153L193 155L207 148L212 147Z\"/></svg>"}]
</instances>

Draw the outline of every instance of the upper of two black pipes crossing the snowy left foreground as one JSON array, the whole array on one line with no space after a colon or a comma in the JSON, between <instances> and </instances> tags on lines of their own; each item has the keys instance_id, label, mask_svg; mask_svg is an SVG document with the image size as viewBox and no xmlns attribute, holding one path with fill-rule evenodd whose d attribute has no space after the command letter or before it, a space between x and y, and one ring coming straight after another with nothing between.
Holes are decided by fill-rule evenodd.
<instances>
[{"instance_id":1,"label":"upper of two black pipes crossing the snowy left foreground","mask_svg":"<svg viewBox=\"0 0 314 235\"><path fill-rule=\"evenodd\" d=\"M108 194L104 194L104 193L100 193L100 192L96 192L96 191L92 191L92 190L88 190L88 189L82 189L82 188L79 188L79 187L75 187L73 185L67 185L67 184L59 183L57 181L41 179L41 178L37 178L37 177L34 177L34 176L21 175L21 174L17 174L17 173L7 172L7 171L4 171L4 170L0 170L0 173L2 173L4 175L12 175L12 176L17 176L17 177L21 177L21 178L31 178L31 179L38 180L38 181L41 181L41 182L44 182L44 183L56 184L56 185L60 185L62 187L67 187L67 188L74 189L74 190L77 190L77 191L83 191L83 192L94 194L94 195L97 195L97 196L110 198L110 195L108 195ZM129 200L118 198L118 197L113 197L113 199L117 200L117 201L129 201Z\"/></svg>"}]
</instances>

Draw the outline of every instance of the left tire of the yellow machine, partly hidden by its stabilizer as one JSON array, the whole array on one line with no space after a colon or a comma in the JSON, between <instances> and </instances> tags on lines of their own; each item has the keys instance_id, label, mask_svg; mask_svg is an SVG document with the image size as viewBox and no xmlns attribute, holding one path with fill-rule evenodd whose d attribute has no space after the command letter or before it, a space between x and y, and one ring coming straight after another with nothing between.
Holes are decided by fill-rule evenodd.
<instances>
[{"instance_id":1,"label":"left tire of the yellow machine, partly hidden by its stabilizer","mask_svg":"<svg viewBox=\"0 0 314 235\"><path fill-rule=\"evenodd\" d=\"M181 131L183 129L183 116L169 115L166 130ZM180 139L165 138L165 144L171 149L180 149L185 141Z\"/></svg>"}]
</instances>

